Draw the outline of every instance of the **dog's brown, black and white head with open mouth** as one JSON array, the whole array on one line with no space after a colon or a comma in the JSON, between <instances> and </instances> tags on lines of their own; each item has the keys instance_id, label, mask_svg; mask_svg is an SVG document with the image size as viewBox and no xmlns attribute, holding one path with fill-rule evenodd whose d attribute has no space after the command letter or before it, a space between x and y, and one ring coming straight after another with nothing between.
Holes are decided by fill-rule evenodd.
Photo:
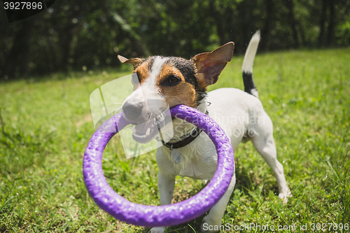
<instances>
[{"instance_id":1,"label":"dog's brown, black and white head with open mouth","mask_svg":"<svg viewBox=\"0 0 350 233\"><path fill-rule=\"evenodd\" d=\"M123 103L123 115L139 124L133 138L140 143L151 141L158 134L158 115L168 107L184 104L193 108L206 96L208 85L218 81L218 76L230 62L233 42L212 52L203 52L190 60L181 57L153 56L127 59L118 55L122 63L132 64L137 80L132 80L134 92ZM154 118L154 120L152 120Z\"/></svg>"}]
</instances>

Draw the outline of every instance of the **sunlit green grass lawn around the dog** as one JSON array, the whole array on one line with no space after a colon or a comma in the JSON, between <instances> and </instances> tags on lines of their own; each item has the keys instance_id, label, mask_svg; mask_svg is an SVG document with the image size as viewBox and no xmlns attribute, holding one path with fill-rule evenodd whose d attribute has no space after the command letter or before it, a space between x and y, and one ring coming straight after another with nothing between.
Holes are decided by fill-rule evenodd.
<instances>
[{"instance_id":1,"label":"sunlit green grass lawn around the dog","mask_svg":"<svg viewBox=\"0 0 350 233\"><path fill-rule=\"evenodd\" d=\"M210 90L242 89L242 59L234 57ZM148 232L101 211L83 183L83 153L94 132L90 93L130 71L0 83L0 232ZM235 153L237 185L223 224L335 232L330 227L342 223L337 232L350 232L350 48L258 55L253 76L274 122L279 161L293 197L283 206L272 170L251 142L241 144ZM115 136L103 164L120 195L159 204L155 152L127 160ZM177 178L174 202L203 187L202 181ZM168 232L200 232L202 218Z\"/></svg>"}]
</instances>

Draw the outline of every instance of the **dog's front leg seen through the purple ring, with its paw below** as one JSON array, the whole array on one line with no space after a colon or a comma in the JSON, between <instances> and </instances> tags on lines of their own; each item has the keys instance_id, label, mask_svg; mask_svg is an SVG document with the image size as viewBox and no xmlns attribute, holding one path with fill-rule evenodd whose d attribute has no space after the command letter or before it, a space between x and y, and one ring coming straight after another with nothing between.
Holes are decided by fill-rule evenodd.
<instances>
[{"instance_id":1,"label":"dog's front leg seen through the purple ring, with its paw below","mask_svg":"<svg viewBox=\"0 0 350 233\"><path fill-rule=\"evenodd\" d=\"M175 187L175 177L171 178L158 173L158 190L160 195L160 205L172 204L173 192ZM153 227L149 233L164 233L165 227Z\"/></svg>"}]
</instances>

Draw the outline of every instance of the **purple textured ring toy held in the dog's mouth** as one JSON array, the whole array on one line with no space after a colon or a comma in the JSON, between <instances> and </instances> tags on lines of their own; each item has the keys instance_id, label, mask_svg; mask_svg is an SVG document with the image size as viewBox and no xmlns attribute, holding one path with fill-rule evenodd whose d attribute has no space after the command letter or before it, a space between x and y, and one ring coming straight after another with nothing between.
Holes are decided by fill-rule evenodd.
<instances>
[{"instance_id":1,"label":"purple textured ring toy held in the dog's mouth","mask_svg":"<svg viewBox=\"0 0 350 233\"><path fill-rule=\"evenodd\" d=\"M145 227L179 225L209 211L228 189L235 161L232 146L223 129L208 115L195 108L179 105L171 108L170 113L176 118L187 120L200 127L214 142L218 153L218 167L214 177L197 195L183 202L166 206L135 204L120 197L109 186L102 170L102 154L106 144L118 132L118 128L122 129L130 124L121 113L114 115L104 122L91 137L83 160L83 176L87 192L101 209L114 218ZM106 128L113 130L102 132L102 129Z\"/></svg>"}]
</instances>

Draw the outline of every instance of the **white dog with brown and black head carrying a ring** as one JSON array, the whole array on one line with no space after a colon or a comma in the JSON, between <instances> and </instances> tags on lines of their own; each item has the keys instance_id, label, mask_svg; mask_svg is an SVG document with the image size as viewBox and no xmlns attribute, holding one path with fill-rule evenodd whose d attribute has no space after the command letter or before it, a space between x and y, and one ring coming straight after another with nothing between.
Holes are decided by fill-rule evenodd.
<instances>
[{"instance_id":1,"label":"white dog with brown and black head carrying a ring","mask_svg":"<svg viewBox=\"0 0 350 233\"><path fill-rule=\"evenodd\" d=\"M127 59L118 55L120 62L132 64L139 84L123 103L123 115L132 122L145 122L159 115L169 106L184 104L206 113L230 139L235 151L241 141L251 140L276 176L279 198L286 203L290 191L283 173L283 166L277 160L273 138L272 120L262 108L258 91L253 82L253 60L260 41L257 32L251 39L242 67L244 89L221 88L207 93L207 87L214 85L218 77L231 61L235 44L226 43L212 52L203 52L191 59L181 57L153 56ZM142 101L146 99L146 101ZM158 104L147 104L147 99ZM135 126L133 138L146 143L155 138L156 124L147 127ZM216 171L217 153L214 143L197 127L180 120L172 119L174 136L158 148L156 160L159 167L158 190L160 204L171 204L176 176L210 180ZM196 132L198 136L194 136ZM159 139L158 139L159 140ZM176 148L176 155L172 155ZM233 166L233 164L232 164ZM204 217L202 232L217 232L235 188L235 173L228 190ZM165 227L153 227L151 233L165 232Z\"/></svg>"}]
</instances>

